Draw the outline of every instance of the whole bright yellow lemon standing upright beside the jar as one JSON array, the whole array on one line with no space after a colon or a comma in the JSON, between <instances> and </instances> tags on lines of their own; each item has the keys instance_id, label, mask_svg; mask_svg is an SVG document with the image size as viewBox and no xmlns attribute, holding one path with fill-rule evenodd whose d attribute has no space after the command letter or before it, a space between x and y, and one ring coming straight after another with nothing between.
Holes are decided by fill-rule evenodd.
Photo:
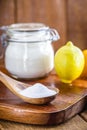
<instances>
[{"instance_id":1,"label":"whole bright yellow lemon standing upright beside the jar","mask_svg":"<svg viewBox=\"0 0 87 130\"><path fill-rule=\"evenodd\" d=\"M71 83L78 78L84 68L84 55L71 41L62 46L55 54L54 67L60 80Z\"/></svg>"}]
</instances>

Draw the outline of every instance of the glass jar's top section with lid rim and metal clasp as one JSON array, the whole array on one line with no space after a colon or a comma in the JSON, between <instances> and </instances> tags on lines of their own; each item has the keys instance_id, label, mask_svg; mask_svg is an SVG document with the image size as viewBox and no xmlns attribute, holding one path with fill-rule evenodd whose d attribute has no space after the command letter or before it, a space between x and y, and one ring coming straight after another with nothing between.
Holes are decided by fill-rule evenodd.
<instances>
[{"instance_id":1,"label":"glass jar's top section with lid rim and metal clasp","mask_svg":"<svg viewBox=\"0 0 87 130\"><path fill-rule=\"evenodd\" d=\"M17 23L2 27L6 32L7 40L20 43L36 43L47 40L58 40L59 34L55 29L42 23Z\"/></svg>"}]
</instances>

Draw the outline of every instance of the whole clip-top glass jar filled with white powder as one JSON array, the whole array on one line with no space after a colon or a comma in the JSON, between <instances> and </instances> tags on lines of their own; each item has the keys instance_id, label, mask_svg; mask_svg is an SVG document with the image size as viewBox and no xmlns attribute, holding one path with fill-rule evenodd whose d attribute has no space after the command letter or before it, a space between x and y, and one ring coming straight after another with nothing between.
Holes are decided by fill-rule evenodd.
<instances>
[{"instance_id":1,"label":"whole clip-top glass jar filled with white powder","mask_svg":"<svg viewBox=\"0 0 87 130\"><path fill-rule=\"evenodd\" d=\"M52 41L59 39L55 29L42 23L19 23L2 27L5 67L15 78L40 78L54 67ZM3 37L4 36L4 37Z\"/></svg>"}]
</instances>

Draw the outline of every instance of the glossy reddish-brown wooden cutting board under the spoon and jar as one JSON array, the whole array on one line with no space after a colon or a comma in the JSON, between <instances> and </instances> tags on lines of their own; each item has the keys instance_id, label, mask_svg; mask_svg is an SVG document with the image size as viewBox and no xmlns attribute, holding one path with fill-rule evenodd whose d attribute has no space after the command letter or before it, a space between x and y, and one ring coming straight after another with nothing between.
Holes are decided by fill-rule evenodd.
<instances>
[{"instance_id":1,"label":"glossy reddish-brown wooden cutting board under the spoon and jar","mask_svg":"<svg viewBox=\"0 0 87 130\"><path fill-rule=\"evenodd\" d=\"M60 93L49 104L32 105L23 102L0 83L0 119L38 125L59 124L81 112L87 104L86 80L78 79L68 85L61 83L52 72L45 78L23 82L57 87Z\"/></svg>"}]
</instances>

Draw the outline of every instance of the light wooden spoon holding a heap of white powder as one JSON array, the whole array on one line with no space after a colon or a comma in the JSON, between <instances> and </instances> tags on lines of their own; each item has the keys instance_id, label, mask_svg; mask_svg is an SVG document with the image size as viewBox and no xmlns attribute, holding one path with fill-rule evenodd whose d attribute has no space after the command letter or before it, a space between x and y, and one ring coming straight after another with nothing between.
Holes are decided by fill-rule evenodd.
<instances>
[{"instance_id":1,"label":"light wooden spoon holding a heap of white powder","mask_svg":"<svg viewBox=\"0 0 87 130\"><path fill-rule=\"evenodd\" d=\"M48 96L48 97L41 97L41 98L30 98L30 97L21 95L20 92L32 85L16 81L10 78L9 76L7 76L6 74L2 73L1 71L0 71L0 81L16 96L18 96L25 102L32 103L32 104L46 104L48 102L51 102L59 92L57 88L51 88L48 86L49 89L54 90L56 92L55 95Z\"/></svg>"}]
</instances>

